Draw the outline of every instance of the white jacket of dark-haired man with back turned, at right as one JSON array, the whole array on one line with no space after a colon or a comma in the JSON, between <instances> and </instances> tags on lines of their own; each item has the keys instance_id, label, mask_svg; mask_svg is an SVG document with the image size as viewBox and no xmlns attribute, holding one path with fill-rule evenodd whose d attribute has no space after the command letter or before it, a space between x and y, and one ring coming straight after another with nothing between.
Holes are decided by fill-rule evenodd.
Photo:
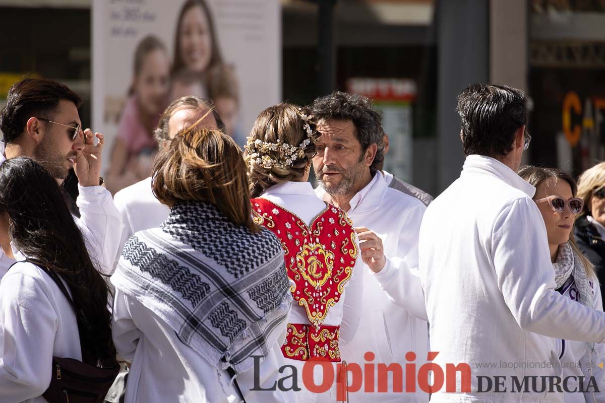
<instances>
[{"instance_id":1,"label":"white jacket of dark-haired man with back turned, at right","mask_svg":"<svg viewBox=\"0 0 605 403\"><path fill-rule=\"evenodd\" d=\"M431 350L439 352L433 362L444 371L446 363L467 363L472 373L470 393L445 393L444 385L431 402L563 401L556 392L512 393L512 376L562 375L552 367L559 363L554 338L605 340L603 312L554 290L534 193L504 164L471 155L460 178L427 208L420 277ZM477 376L506 376L507 392L479 393Z\"/></svg>"}]
</instances>

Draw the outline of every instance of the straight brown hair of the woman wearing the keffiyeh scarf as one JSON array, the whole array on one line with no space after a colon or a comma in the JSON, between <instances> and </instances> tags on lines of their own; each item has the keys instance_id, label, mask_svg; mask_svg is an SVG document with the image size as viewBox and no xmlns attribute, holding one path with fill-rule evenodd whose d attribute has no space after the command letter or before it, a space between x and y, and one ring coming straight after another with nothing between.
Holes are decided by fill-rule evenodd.
<instances>
[{"instance_id":1,"label":"straight brown hair of the woman wearing the keffiyeh scarf","mask_svg":"<svg viewBox=\"0 0 605 403\"><path fill-rule=\"evenodd\" d=\"M208 202L234 224L260 231L252 221L241 149L223 132L197 124L179 132L155 159L152 177L154 195L163 204Z\"/></svg>"}]
</instances>

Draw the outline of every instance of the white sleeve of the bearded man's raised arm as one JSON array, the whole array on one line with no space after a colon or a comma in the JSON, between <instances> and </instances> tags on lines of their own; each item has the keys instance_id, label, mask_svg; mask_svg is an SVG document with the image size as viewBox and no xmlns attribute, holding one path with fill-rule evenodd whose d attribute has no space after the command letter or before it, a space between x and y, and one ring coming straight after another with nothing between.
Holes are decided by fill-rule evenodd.
<instances>
[{"instance_id":1,"label":"white sleeve of the bearded man's raised arm","mask_svg":"<svg viewBox=\"0 0 605 403\"><path fill-rule=\"evenodd\" d=\"M408 209L399 228L397 256L387 257L382 270L372 272L392 303L422 320L428 317L418 271L418 237L425 210L420 202Z\"/></svg>"}]
</instances>

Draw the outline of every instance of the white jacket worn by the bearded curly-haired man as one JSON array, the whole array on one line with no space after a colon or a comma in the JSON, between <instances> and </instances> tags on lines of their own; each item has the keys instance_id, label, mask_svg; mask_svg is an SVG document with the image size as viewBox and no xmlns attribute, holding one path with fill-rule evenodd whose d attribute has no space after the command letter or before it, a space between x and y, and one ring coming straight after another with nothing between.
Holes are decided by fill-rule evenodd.
<instances>
[{"instance_id":1,"label":"white jacket worn by the bearded curly-haired man","mask_svg":"<svg viewBox=\"0 0 605 403\"><path fill-rule=\"evenodd\" d=\"M318 187L318 196L331 202L330 195ZM364 265L364 305L359 331L353 340L342 347L342 356L348 363L358 363L362 368L367 363L365 352L373 352L377 364L399 363L404 367L405 353L417 355L418 366L426 361L428 352L428 324L422 288L417 272L417 240L425 205L418 199L405 195L387 186L381 172L350 201L347 211L353 227L367 227L382 239L385 267L378 274ZM396 280L393 280L395 279ZM379 279L381 281L379 282ZM381 288L382 284L392 285L391 297ZM401 287L400 287L401 286ZM399 292L404 298L398 298ZM374 370L376 372L376 370ZM378 379L378 373L375 374ZM393 392L393 382L388 379L388 392L350 393L352 402L427 402L428 394L416 388L416 393ZM378 381L374 381L378 390Z\"/></svg>"}]
</instances>

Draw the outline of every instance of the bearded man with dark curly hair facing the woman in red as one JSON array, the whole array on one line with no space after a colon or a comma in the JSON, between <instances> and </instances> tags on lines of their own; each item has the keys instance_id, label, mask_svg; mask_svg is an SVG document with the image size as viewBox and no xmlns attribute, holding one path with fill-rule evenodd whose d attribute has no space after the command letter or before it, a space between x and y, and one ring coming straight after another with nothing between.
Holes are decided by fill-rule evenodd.
<instances>
[{"instance_id":1,"label":"bearded man with dark curly hair facing the woman in red","mask_svg":"<svg viewBox=\"0 0 605 403\"><path fill-rule=\"evenodd\" d=\"M342 358L360 366L367 361L401 364L407 352L414 352L416 364L422 365L428 352L428 324L417 267L418 233L426 207L388 187L376 169L384 159L384 131L382 116L368 98L334 92L316 99L311 109L321 134L313 157L320 184L316 193L352 219L367 265L360 330L342 347ZM420 390L398 393L393 385L401 384L401 379L371 379L376 382L350 395L364 402L428 401ZM376 384L387 384L387 392L378 392Z\"/></svg>"}]
</instances>

